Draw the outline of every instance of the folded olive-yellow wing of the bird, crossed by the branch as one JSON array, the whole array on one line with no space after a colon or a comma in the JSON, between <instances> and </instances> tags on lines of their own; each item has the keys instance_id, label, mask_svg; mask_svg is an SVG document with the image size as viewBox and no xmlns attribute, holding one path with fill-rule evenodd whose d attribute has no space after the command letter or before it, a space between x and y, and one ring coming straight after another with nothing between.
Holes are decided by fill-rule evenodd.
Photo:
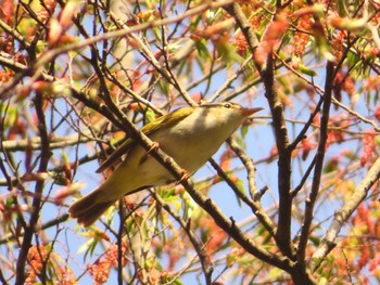
<instances>
[{"instance_id":1,"label":"folded olive-yellow wing of the bird, crossed by the branch","mask_svg":"<svg viewBox=\"0 0 380 285\"><path fill-rule=\"evenodd\" d=\"M192 113L192 107L185 107L177 109L167 115L161 116L154 121L151 121L141 128L141 132L145 135L151 135L155 132L160 126L165 126L165 128L170 128L173 125L182 120ZM110 166L114 165L123 155L127 154L131 147L136 145L132 139L127 139L121 146L118 146L97 169L97 173L103 172Z\"/></svg>"}]
</instances>

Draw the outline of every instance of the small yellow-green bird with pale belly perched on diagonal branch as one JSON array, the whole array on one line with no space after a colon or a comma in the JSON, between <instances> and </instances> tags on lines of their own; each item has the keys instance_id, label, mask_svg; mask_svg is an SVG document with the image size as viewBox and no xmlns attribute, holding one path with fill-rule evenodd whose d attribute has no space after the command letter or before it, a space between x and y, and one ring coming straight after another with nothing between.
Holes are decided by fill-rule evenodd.
<instances>
[{"instance_id":1,"label":"small yellow-green bird with pale belly perched on diagonal branch","mask_svg":"<svg viewBox=\"0 0 380 285\"><path fill-rule=\"evenodd\" d=\"M248 116L261 109L230 102L188 106L160 117L142 127L141 131L181 168L193 173ZM113 165L124 154L124 161L99 187L68 208L71 217L77 218L78 223L89 226L124 195L175 181L164 166L131 139L124 142L97 172Z\"/></svg>"}]
</instances>

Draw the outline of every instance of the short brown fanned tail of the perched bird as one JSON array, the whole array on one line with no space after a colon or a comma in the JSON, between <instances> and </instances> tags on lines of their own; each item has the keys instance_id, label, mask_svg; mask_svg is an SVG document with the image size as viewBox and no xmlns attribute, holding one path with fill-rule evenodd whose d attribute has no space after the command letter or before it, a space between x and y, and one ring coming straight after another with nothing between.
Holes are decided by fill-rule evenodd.
<instances>
[{"instance_id":1,"label":"short brown fanned tail of the perched bird","mask_svg":"<svg viewBox=\"0 0 380 285\"><path fill-rule=\"evenodd\" d=\"M116 200L102 200L98 197L99 191L93 191L85 197L75 202L69 208L68 213L76 218L78 223L85 228L91 225L102 213L111 207Z\"/></svg>"}]
</instances>

